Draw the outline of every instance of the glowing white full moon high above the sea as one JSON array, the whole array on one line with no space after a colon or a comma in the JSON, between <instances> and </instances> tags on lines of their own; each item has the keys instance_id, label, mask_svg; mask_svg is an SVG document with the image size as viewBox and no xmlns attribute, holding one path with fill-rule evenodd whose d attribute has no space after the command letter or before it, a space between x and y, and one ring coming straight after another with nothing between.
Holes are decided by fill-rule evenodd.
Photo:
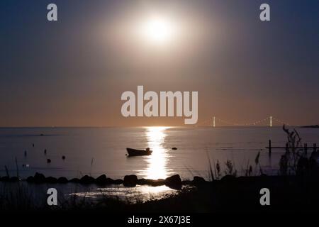
<instances>
[{"instance_id":1,"label":"glowing white full moon high above the sea","mask_svg":"<svg viewBox=\"0 0 319 227\"><path fill-rule=\"evenodd\" d=\"M174 28L168 18L153 17L142 24L141 33L149 43L162 45L172 40Z\"/></svg>"}]
</instances>

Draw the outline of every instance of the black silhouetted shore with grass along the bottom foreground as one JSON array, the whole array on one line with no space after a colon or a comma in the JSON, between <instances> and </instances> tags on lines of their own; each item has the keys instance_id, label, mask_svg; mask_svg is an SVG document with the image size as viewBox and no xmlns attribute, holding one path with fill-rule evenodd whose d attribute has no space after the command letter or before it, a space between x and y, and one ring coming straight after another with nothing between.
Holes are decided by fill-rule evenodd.
<instances>
[{"instance_id":1,"label":"black silhouetted shore with grass along the bottom foreground","mask_svg":"<svg viewBox=\"0 0 319 227\"><path fill-rule=\"evenodd\" d=\"M37 177L39 176L40 174ZM22 191L22 194L18 194L18 196L26 199L26 201L30 201L30 204L24 204L23 202L20 204L20 202L18 202L18 204L13 204L14 206L12 206L12 204L2 204L2 206L5 211L26 209L28 211L35 212L39 210L47 212L110 211L122 213L215 213L239 210L241 212L319 211L318 175L258 175L250 177L225 175L221 179L214 179L213 181L203 181L201 178L197 177L195 177L192 181L178 181L179 178L177 176L178 175L173 175L171 178L168 177L169 179L164 180L152 180L153 182L160 182L158 184L150 184L150 182L147 182L147 179L138 179L135 185L130 184L130 186L128 186L128 184L125 184L125 187L135 187L136 185L150 185L150 187L156 187L162 184L167 185L168 187L177 187L181 185L193 185L195 187L177 187L175 188L179 189L177 194L170 194L162 197L161 199L149 199L147 201L128 201L125 199L117 199L112 196L101 196L99 202L92 203L89 198L83 198L82 200L79 196L70 196L67 199L63 198L64 200L62 200L62 204L58 204L58 206L55 207L47 206L46 204L40 204L37 206L33 204L35 201L28 198L28 194L23 194ZM128 179L130 179L130 177L125 178L126 183ZM2 179L1 182L3 182ZM18 182L9 183L15 184ZM23 182L26 182L26 180L23 180ZM64 183L56 182L56 184L62 185L70 182L71 181ZM33 181L28 183L35 185L35 187L40 187L40 185L47 184L49 182ZM50 184L51 183L52 182L50 182ZM83 184L83 182L78 182L78 184ZM101 184L96 182L86 183L86 185L89 184L97 184L101 186ZM124 179L122 184L124 184ZM271 206L261 206L261 204L259 204L259 199L262 196L260 192L263 188L269 189L271 195ZM74 198L80 199L76 201Z\"/></svg>"}]
</instances>

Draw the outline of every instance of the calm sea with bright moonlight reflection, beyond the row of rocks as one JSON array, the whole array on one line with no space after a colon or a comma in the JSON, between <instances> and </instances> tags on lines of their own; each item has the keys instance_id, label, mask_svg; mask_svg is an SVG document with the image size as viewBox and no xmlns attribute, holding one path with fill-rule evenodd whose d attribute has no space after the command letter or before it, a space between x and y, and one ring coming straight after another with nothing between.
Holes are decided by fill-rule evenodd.
<instances>
[{"instance_id":1,"label":"calm sea with bright moonlight reflection, beyond the row of rocks","mask_svg":"<svg viewBox=\"0 0 319 227\"><path fill-rule=\"evenodd\" d=\"M319 143L318 129L298 128L298 132L303 143ZM269 158L265 149L269 139L274 145L286 143L281 128L0 128L0 175L6 175L5 165L11 176L16 175L16 157L22 177L42 172L68 178L86 174L114 179L131 174L152 179L174 174L182 179L208 178L208 156L211 162L219 160L222 168L232 160L240 175L247 163L254 166L259 151L263 170L276 174L282 151ZM127 147L150 147L153 153L127 157Z\"/></svg>"}]
</instances>

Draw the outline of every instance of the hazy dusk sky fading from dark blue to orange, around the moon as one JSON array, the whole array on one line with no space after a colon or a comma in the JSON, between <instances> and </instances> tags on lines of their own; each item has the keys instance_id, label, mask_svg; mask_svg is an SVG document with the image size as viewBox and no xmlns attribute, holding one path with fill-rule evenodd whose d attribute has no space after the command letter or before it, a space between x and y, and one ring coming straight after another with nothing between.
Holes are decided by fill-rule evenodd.
<instances>
[{"instance_id":1,"label":"hazy dusk sky fading from dark blue to orange, around the moon","mask_svg":"<svg viewBox=\"0 0 319 227\"><path fill-rule=\"evenodd\" d=\"M47 4L58 21L47 21ZM271 21L259 21L259 6ZM150 13L178 34L135 35ZM121 94L198 91L198 123L319 123L319 1L1 1L0 126L183 125L123 118Z\"/></svg>"}]
</instances>

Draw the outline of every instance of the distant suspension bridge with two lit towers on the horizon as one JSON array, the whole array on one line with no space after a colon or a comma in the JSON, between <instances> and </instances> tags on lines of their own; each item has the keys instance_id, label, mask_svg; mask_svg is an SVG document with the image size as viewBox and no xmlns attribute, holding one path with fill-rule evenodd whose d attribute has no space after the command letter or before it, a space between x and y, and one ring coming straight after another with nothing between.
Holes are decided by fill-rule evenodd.
<instances>
[{"instance_id":1,"label":"distant suspension bridge with two lit towers on the horizon","mask_svg":"<svg viewBox=\"0 0 319 227\"><path fill-rule=\"evenodd\" d=\"M279 120L279 118L275 118L274 116L268 116L267 118L260 119L258 121L252 121L252 122L233 122L233 121L227 121L222 118L218 118L216 116L213 116L213 118L208 119L206 121L199 122L197 126L211 126L211 127L218 127L218 126L291 126L291 124ZM295 125L298 126L298 125Z\"/></svg>"}]
</instances>

